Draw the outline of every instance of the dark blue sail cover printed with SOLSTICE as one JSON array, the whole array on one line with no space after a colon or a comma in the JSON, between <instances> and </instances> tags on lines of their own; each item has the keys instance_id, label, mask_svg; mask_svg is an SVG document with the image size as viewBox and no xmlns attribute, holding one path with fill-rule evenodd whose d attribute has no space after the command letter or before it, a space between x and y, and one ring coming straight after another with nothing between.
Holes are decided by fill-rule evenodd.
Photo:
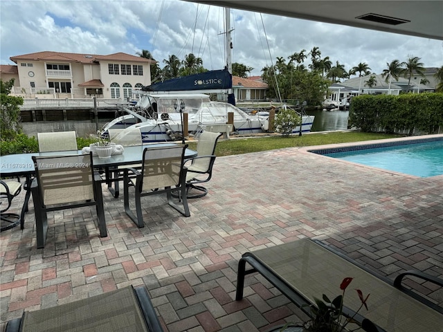
<instances>
[{"instance_id":1,"label":"dark blue sail cover printed with SOLSTICE","mask_svg":"<svg viewBox=\"0 0 443 332\"><path fill-rule=\"evenodd\" d=\"M143 86L142 91L195 91L232 89L233 76L227 69L206 71L195 75L172 78Z\"/></svg>"}]
</instances>

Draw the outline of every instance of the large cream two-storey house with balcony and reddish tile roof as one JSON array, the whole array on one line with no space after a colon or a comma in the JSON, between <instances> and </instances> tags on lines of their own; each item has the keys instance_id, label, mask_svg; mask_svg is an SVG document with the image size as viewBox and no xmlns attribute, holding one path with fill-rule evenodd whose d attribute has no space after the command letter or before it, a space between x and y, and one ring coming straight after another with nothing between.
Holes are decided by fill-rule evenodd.
<instances>
[{"instance_id":1,"label":"large cream two-storey house with balcony and reddish tile roof","mask_svg":"<svg viewBox=\"0 0 443 332\"><path fill-rule=\"evenodd\" d=\"M132 98L151 84L151 59L126 53L91 55L43 51L10 57L2 80L15 78L12 93L24 98ZM7 68L8 67L8 68ZM4 75L8 72L8 75ZM11 74L12 73L12 74Z\"/></svg>"}]
</instances>

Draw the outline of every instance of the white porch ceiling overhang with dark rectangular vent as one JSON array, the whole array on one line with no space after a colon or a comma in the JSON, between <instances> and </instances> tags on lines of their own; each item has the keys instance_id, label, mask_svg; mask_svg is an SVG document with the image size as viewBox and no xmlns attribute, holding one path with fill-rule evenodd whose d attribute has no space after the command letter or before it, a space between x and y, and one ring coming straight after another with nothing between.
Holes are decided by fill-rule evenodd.
<instances>
[{"instance_id":1,"label":"white porch ceiling overhang with dark rectangular vent","mask_svg":"<svg viewBox=\"0 0 443 332\"><path fill-rule=\"evenodd\" d=\"M443 1L440 0L186 1L443 40Z\"/></svg>"}]
</instances>

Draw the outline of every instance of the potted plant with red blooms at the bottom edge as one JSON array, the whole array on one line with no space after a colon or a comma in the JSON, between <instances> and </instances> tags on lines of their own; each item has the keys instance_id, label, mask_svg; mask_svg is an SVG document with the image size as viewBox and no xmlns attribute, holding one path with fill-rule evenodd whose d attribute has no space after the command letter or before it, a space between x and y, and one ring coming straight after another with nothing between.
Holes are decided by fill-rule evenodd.
<instances>
[{"instance_id":1,"label":"potted plant with red blooms at the bottom edge","mask_svg":"<svg viewBox=\"0 0 443 332\"><path fill-rule=\"evenodd\" d=\"M368 310L366 304L369 294L364 297L361 290L356 289L357 295L361 301L359 309L352 317L346 317L343 315L343 298L345 297L345 291L347 286L352 282L353 278L346 277L340 284L342 291L341 295L335 297L332 301L323 294L323 299L314 297L315 304L307 305L311 308L312 318L302 324L302 331L309 332L347 332L347 331L366 331L366 332L378 332L377 326L375 326L370 320L364 319L362 324L358 324L354 317L363 306ZM348 324L354 323L356 327L348 328ZM294 326L293 323L285 324L280 331L286 331L289 326ZM355 326L355 325L354 325Z\"/></svg>"}]
</instances>

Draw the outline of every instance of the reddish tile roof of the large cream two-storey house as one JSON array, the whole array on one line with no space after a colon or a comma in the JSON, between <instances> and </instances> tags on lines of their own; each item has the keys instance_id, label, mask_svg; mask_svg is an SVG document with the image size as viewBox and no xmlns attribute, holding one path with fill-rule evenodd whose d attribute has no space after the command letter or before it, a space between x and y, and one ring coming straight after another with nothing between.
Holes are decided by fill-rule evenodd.
<instances>
[{"instance_id":1,"label":"reddish tile roof of the large cream two-storey house","mask_svg":"<svg viewBox=\"0 0 443 332\"><path fill-rule=\"evenodd\" d=\"M93 62L100 62L100 60L107 61L127 61L127 62L156 62L144 57L137 57L127 53L114 53L109 55L96 55L88 53L61 53L45 50L43 52L29 53L24 55L15 55L10 59L17 64L19 60L37 60L37 61L64 61L64 62L80 62L82 64L91 64Z\"/></svg>"}]
</instances>

